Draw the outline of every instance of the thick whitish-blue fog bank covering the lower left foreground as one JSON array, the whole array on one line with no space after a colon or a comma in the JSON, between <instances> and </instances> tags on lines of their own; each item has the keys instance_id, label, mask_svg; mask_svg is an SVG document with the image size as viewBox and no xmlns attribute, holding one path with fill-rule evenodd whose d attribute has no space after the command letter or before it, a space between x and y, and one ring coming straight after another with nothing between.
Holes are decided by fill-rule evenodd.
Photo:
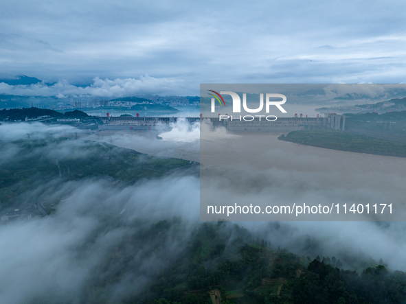
<instances>
[{"instance_id":1,"label":"thick whitish-blue fog bank covering the lower left foreground","mask_svg":"<svg viewBox=\"0 0 406 304\"><path fill-rule=\"evenodd\" d=\"M38 186L25 199L65 197L54 215L1 228L0 274L7 277L0 288L1 303L40 299L83 303L137 296L181 253L190 237L187 227L196 222L191 216L197 214L193 209L199 200L194 195L199 187L196 178L170 178L124 189L87 180L40 194L50 186ZM151 233L151 225L174 216L188 219L181 229L148 240L142 237ZM130 257L125 268L120 257ZM94 287L122 271L103 290ZM91 288L96 294L89 293Z\"/></svg>"}]
</instances>

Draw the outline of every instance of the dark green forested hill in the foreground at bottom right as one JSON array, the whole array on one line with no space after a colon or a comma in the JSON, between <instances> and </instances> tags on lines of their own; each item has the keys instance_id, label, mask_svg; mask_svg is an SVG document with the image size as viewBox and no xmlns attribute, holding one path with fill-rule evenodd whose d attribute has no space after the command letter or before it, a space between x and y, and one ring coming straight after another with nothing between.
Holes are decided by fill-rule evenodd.
<instances>
[{"instance_id":1,"label":"dark green forested hill in the foreground at bottom right","mask_svg":"<svg viewBox=\"0 0 406 304\"><path fill-rule=\"evenodd\" d=\"M151 235L178 225L159 222ZM161 237L163 237L161 235ZM230 242L230 239L232 242ZM335 257L309 258L256 242L232 224L203 223L184 255L150 286L151 304L343 304L405 303L406 275L385 266L357 274L340 270ZM212 299L210 299L212 294ZM155 298L151 300L148 298Z\"/></svg>"}]
</instances>

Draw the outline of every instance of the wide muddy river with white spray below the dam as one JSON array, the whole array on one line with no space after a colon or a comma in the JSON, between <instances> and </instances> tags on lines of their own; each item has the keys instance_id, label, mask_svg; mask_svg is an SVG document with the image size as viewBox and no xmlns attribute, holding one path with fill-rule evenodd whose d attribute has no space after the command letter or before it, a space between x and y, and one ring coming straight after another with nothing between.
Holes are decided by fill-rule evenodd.
<instances>
[{"instance_id":1,"label":"wide muddy river with white spray below the dam","mask_svg":"<svg viewBox=\"0 0 406 304\"><path fill-rule=\"evenodd\" d=\"M406 159L315 148L280 141L282 133L216 132L200 141L199 129L157 132L98 132L93 139L138 152L201 161L202 165L247 165L256 170L279 170L297 180L321 187L381 189L405 195ZM242 143L245 147L242 148ZM202 150L202 154L201 154Z\"/></svg>"}]
</instances>

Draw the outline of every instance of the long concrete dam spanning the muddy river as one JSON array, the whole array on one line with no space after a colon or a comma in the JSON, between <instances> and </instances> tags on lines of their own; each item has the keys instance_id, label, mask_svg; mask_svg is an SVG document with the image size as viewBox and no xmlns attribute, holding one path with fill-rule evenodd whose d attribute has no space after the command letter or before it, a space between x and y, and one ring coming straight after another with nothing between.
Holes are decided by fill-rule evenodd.
<instances>
[{"instance_id":1,"label":"long concrete dam spanning the muddy river","mask_svg":"<svg viewBox=\"0 0 406 304\"><path fill-rule=\"evenodd\" d=\"M218 119L218 117L98 117L103 124L99 130L162 130L171 128L171 124L185 119L190 124L209 119L213 128L225 127L232 132L290 132L293 130L310 130L318 127L344 130L346 117L335 113L324 117L278 117L267 121L264 117L254 117L250 121L239 119Z\"/></svg>"}]
</instances>

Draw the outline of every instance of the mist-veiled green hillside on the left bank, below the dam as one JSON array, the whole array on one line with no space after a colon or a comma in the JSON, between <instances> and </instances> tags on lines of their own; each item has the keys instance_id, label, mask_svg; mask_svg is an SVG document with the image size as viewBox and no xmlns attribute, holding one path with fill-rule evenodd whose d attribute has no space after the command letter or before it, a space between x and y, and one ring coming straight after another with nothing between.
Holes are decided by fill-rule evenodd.
<instances>
[{"instance_id":1,"label":"mist-veiled green hillside on the left bank, below the dam","mask_svg":"<svg viewBox=\"0 0 406 304\"><path fill-rule=\"evenodd\" d=\"M16 151L13 161L0 165L0 207L7 207L38 182L60 179L60 183L64 183L108 177L135 183L190 165L190 161L148 156L107 143L52 137L36 139L34 136L11 142L0 139L0 153ZM38 180L38 176L41 179Z\"/></svg>"}]
</instances>

